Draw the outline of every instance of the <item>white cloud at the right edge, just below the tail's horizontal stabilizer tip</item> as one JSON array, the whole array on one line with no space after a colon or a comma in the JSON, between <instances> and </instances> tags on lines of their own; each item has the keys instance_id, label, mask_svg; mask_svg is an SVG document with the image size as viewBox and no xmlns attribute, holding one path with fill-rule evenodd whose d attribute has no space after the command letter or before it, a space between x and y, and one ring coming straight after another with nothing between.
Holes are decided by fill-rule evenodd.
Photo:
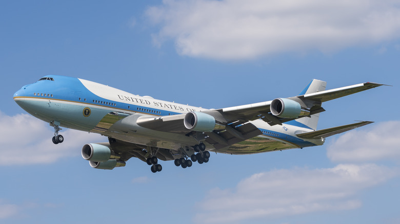
<instances>
[{"instance_id":1,"label":"white cloud at the right edge, just below the tail's horizontal stabilizer tip","mask_svg":"<svg viewBox=\"0 0 400 224\"><path fill-rule=\"evenodd\" d=\"M400 121L382 122L346 132L327 147L333 162L400 159Z\"/></svg>"}]
</instances>

